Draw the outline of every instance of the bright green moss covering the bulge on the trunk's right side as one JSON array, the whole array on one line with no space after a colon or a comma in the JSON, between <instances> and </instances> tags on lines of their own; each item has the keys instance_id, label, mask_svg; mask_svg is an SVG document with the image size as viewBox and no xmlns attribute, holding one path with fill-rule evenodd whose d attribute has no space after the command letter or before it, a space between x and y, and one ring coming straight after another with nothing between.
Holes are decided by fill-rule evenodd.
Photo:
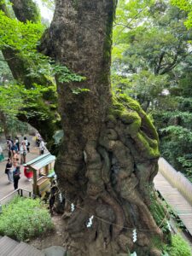
<instances>
[{"instance_id":1,"label":"bright green moss covering the bulge on the trunk's right side","mask_svg":"<svg viewBox=\"0 0 192 256\"><path fill-rule=\"evenodd\" d=\"M134 139L144 157L154 159L160 156L157 132L138 102L125 95L113 96L109 115L111 119L121 119L127 124L125 133Z\"/></svg>"}]
</instances>

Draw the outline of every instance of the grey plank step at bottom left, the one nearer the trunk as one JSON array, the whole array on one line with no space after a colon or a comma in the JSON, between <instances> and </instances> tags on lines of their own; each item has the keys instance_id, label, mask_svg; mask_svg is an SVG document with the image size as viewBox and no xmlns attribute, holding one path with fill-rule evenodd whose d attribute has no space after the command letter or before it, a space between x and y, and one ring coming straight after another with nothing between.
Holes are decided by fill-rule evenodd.
<instances>
[{"instance_id":1,"label":"grey plank step at bottom left, the one nearer the trunk","mask_svg":"<svg viewBox=\"0 0 192 256\"><path fill-rule=\"evenodd\" d=\"M1 253L0 253L1 255ZM45 254L37 248L28 245L21 241L15 249L6 256L44 256Z\"/></svg>"}]
</instances>

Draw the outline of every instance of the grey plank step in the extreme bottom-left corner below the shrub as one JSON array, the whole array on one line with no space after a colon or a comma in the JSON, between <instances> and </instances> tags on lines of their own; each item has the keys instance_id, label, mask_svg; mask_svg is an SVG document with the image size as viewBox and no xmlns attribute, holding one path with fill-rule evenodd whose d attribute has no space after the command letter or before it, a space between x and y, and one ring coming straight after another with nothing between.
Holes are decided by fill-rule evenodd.
<instances>
[{"instance_id":1,"label":"grey plank step in the extreme bottom-left corner below the shrub","mask_svg":"<svg viewBox=\"0 0 192 256\"><path fill-rule=\"evenodd\" d=\"M15 247L18 244L19 244L18 241L15 241L15 240L9 238L8 236L3 236L0 239L0 255L1 256L9 255L9 253L11 253L13 250L15 250Z\"/></svg>"}]
</instances>

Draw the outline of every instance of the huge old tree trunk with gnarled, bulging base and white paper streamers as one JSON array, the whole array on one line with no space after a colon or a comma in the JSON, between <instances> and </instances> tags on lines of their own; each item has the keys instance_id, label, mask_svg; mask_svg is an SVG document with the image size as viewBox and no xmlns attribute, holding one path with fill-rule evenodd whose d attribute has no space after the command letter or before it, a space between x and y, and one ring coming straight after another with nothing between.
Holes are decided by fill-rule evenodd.
<instances>
[{"instance_id":1,"label":"huge old tree trunk with gnarled, bulging base and white paper streamers","mask_svg":"<svg viewBox=\"0 0 192 256\"><path fill-rule=\"evenodd\" d=\"M165 239L166 212L153 188L158 136L138 103L110 88L115 8L111 0L56 0L38 48L85 77L55 78L64 131L55 162L66 197L63 229L71 255L161 255L155 246Z\"/></svg>"}]
</instances>

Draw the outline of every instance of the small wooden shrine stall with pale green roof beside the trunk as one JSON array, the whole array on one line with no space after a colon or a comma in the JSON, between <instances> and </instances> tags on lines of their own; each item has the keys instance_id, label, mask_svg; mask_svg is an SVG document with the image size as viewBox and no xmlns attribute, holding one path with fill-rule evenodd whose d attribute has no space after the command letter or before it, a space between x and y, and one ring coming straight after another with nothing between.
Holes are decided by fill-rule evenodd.
<instances>
[{"instance_id":1,"label":"small wooden shrine stall with pale green roof beside the trunk","mask_svg":"<svg viewBox=\"0 0 192 256\"><path fill-rule=\"evenodd\" d=\"M50 187L49 177L54 172L55 155L50 153L42 154L25 165L30 172L33 172L33 195L43 196ZM38 178L39 177L39 178Z\"/></svg>"}]
</instances>

